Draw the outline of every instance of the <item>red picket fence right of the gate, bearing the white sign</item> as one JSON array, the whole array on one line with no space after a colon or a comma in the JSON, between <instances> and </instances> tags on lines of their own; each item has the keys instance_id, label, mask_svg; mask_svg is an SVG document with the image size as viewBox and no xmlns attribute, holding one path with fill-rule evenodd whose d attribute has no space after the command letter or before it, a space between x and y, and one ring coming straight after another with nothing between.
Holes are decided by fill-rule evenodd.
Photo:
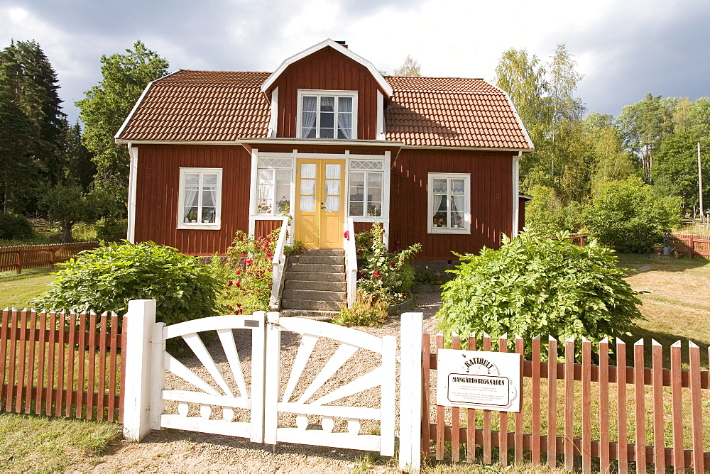
<instances>
[{"instance_id":1,"label":"red picket fence right of the gate, bearing the white sign","mask_svg":"<svg viewBox=\"0 0 710 474\"><path fill-rule=\"evenodd\" d=\"M476 348L473 337L467 342L469 348ZM506 338L495 342L501 352L507 351ZM557 341L549 338L545 342L548 357L557 360ZM444 346L443 334L436 336L434 353L430 353L431 343L430 335L425 333L422 341L425 458L432 456L433 443L435 458L444 459L444 441L450 441L451 460L462 461L459 448L464 445L463 457L469 463L476 458L476 447L482 446L486 464L493 462L496 447L501 465L522 461L523 452L529 451L525 459L533 464L542 463L541 455L547 453L545 463L551 468L564 462L565 468L572 469L575 456L580 456L581 465L577 458L576 468L581 467L584 472L591 472L593 458L595 470L601 472L608 472L612 460L616 460L615 470L620 473L628 471L630 462L636 464L637 472L646 472L650 463L654 463L657 473L665 473L666 465L673 465L676 472L685 468L696 473L710 470L710 452L705 451L703 434L710 419L708 410L705 413L702 410L703 404L710 403L710 373L701 371L701 350L693 343L689 343L690 370L682 370L679 342L670 346L671 368L667 369L663 368L664 348L655 341L652 368L644 365L643 340L633 345L634 362L630 367L626 366L626 344L617 341L615 351L620 362L615 367L609 365L610 344L606 341L599 344L599 365L591 363L589 341L581 343L582 363L574 363L572 340L564 342L564 363L548 364L541 360L542 345L537 337L532 340L532 360L524 360L521 367L525 384L520 413L442 406L436 406L433 412L430 403L435 404L432 381L435 382L436 375L431 370L437 368L436 348ZM454 334L452 348L459 348L460 343L459 336ZM491 346L493 341L485 336L482 349L491 351ZM516 353L525 353L523 339L515 338L513 347ZM708 356L710 362L710 348ZM562 382L561 387L558 381ZM618 385L625 390L617 390ZM469 429L473 426L476 429Z\"/></svg>"}]
</instances>

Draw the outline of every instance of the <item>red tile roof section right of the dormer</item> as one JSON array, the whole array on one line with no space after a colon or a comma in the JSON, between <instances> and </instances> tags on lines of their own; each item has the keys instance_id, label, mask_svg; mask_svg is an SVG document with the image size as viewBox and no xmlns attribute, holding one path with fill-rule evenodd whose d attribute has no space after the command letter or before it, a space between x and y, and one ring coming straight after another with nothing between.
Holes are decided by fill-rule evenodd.
<instances>
[{"instance_id":1,"label":"red tile roof section right of the dormer","mask_svg":"<svg viewBox=\"0 0 710 474\"><path fill-rule=\"evenodd\" d=\"M530 149L506 94L483 79L387 77L387 139L408 145Z\"/></svg>"}]
</instances>

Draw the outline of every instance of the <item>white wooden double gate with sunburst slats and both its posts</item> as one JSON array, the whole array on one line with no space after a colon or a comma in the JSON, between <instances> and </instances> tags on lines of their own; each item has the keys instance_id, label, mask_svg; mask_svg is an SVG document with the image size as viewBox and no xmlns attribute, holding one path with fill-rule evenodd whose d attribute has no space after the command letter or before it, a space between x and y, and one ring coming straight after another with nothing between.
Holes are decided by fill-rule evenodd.
<instances>
[{"instance_id":1,"label":"white wooden double gate with sunburst slats and both its posts","mask_svg":"<svg viewBox=\"0 0 710 474\"><path fill-rule=\"evenodd\" d=\"M417 332L418 319L420 333L421 314L410 316L415 316L410 331ZM174 428L239 436L268 444L301 443L394 455L397 408L397 344L394 336L380 338L322 321L281 318L277 312L213 316L165 326L155 322L154 300L129 302L127 321L126 439L140 441L151 429ZM234 338L235 330L251 331L251 348L246 343L239 347ZM216 344L209 349L204 345L200 333L205 331L217 332L222 353L213 347ZM280 370L282 335L289 333L300 336L300 344L290 365L288 382L285 382L286 374ZM182 338L199 363L187 367L165 351L165 341L171 338ZM314 358L317 343L324 339L334 341L337 348L327 361L322 361L322 367L314 370L312 362L309 363ZM411 339L416 341L421 337ZM409 351L403 347L403 356L411 353L407 356L407 370L417 367L421 370L420 352L407 348ZM215 362L210 350L226 362ZM362 375L346 377L349 380L345 382L333 377L346 363L350 370L357 368L354 355L362 351L376 353L380 365ZM242 361L247 358L251 359L251 370L245 376ZM310 370L305 370L307 367ZM183 381L180 390L168 387L166 374L171 374L172 380ZM421 378L415 374L411 376L414 380ZM406 385L414 393L407 394L404 397L407 406L400 407L407 418L402 420L400 429L406 426L408 430L400 436L400 464L416 468L419 436L410 430L419 426L418 417L414 422L411 417L417 416L417 407L420 409L421 389L416 384L411 386L410 377L407 378L403 387ZM194 390L186 390L184 382L192 385ZM367 390L370 394L376 390L379 407L344 404L344 399ZM334 404L337 401L340 403ZM318 419L320 424L313 426L309 419ZM346 421L337 425L336 419ZM378 430L363 433L366 430L362 429L362 420L377 421ZM373 434L376 431L379 433Z\"/></svg>"}]
</instances>

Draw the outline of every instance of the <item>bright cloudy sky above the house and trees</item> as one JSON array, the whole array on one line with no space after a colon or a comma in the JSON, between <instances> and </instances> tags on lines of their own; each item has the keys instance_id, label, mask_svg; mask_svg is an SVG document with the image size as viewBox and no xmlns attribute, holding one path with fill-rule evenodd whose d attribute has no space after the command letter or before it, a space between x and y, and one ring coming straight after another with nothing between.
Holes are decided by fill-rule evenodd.
<instances>
[{"instance_id":1,"label":"bright cloudy sky above the house and trees","mask_svg":"<svg viewBox=\"0 0 710 474\"><path fill-rule=\"evenodd\" d=\"M65 112L101 79L101 55L143 40L170 70L273 71L325 38L392 72L492 80L509 48L546 60L558 43L584 75L589 110L710 95L707 0L0 0L0 47L37 40L58 72Z\"/></svg>"}]
</instances>

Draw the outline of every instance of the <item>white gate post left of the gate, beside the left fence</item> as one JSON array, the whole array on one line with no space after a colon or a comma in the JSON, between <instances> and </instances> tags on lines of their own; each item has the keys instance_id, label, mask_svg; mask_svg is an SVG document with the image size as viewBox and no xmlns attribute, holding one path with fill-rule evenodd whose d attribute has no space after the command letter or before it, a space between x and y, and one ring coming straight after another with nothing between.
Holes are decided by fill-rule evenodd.
<instances>
[{"instance_id":1,"label":"white gate post left of the gate, beside the left fence","mask_svg":"<svg viewBox=\"0 0 710 474\"><path fill-rule=\"evenodd\" d=\"M124 377L124 438L141 441L151 431L151 338L155 326L155 299L129 301L126 314Z\"/></svg>"}]
</instances>

